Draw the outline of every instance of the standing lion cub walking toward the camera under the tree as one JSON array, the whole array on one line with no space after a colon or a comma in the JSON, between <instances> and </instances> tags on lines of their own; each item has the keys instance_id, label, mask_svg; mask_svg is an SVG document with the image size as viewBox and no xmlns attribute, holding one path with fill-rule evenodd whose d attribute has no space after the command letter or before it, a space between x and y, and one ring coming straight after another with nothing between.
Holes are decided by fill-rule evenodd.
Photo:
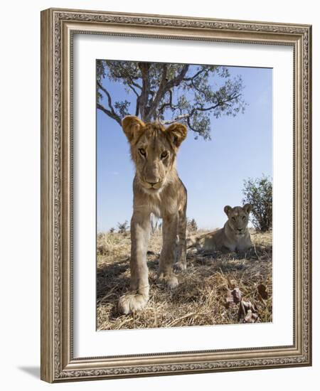
<instances>
[{"instance_id":1,"label":"standing lion cub walking toward the camera under the tree","mask_svg":"<svg viewBox=\"0 0 320 391\"><path fill-rule=\"evenodd\" d=\"M163 219L163 245L158 278L169 288L178 285L174 260L186 269L186 188L176 171L176 154L186 138L182 124L165 128L128 116L122 121L136 166L133 181L131 220L130 292L119 299L119 311L129 314L144 308L149 300L146 250L150 233L150 214ZM178 245L176 237L178 236Z\"/></svg>"}]
</instances>

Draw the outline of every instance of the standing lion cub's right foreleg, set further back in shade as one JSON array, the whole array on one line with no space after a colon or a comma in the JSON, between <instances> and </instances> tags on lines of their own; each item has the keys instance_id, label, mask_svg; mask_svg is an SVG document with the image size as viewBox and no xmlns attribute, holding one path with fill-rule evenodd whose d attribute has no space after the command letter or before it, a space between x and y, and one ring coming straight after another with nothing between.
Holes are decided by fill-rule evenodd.
<instances>
[{"instance_id":1,"label":"standing lion cub's right foreleg, set further back in shade","mask_svg":"<svg viewBox=\"0 0 320 391\"><path fill-rule=\"evenodd\" d=\"M178 285L174 275L174 259L176 258L176 234L178 229L178 213L165 215L162 225L162 250L159 259L158 279L173 289Z\"/></svg>"}]
</instances>

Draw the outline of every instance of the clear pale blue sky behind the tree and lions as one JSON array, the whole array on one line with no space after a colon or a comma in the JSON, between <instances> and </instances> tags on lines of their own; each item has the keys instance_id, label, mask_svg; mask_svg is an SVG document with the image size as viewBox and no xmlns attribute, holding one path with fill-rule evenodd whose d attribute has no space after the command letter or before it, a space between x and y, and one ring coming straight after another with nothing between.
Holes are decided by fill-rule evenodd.
<instances>
[{"instance_id":1,"label":"clear pale blue sky behind the tree and lions","mask_svg":"<svg viewBox=\"0 0 320 391\"><path fill-rule=\"evenodd\" d=\"M242 76L244 114L211 119L211 141L192 131L178 152L178 173L188 189L189 218L198 227L222 227L225 205L241 205L243 180L272 177L272 69L229 67ZM113 100L132 101L120 83L103 80ZM134 110L132 105L132 110ZM134 113L132 113L134 114ZM132 215L134 165L119 124L97 109L97 231Z\"/></svg>"}]
</instances>

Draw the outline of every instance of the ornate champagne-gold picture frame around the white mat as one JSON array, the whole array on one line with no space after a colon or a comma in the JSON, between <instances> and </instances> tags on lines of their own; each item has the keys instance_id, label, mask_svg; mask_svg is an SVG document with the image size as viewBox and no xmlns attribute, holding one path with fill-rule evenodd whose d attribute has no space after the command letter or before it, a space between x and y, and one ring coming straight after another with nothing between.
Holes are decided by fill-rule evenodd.
<instances>
[{"instance_id":1,"label":"ornate champagne-gold picture frame around the white mat","mask_svg":"<svg viewBox=\"0 0 320 391\"><path fill-rule=\"evenodd\" d=\"M75 358L73 36L289 45L294 53L294 343ZM93 261L95 262L95 261ZM311 365L311 26L47 9L41 12L41 379L47 382Z\"/></svg>"}]
</instances>

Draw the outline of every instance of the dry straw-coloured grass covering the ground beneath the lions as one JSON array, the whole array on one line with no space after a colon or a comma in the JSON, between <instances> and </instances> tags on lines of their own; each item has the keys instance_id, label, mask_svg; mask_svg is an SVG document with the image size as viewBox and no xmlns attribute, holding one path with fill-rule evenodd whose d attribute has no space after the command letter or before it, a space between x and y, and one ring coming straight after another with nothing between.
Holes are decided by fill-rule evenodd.
<instances>
[{"instance_id":1,"label":"dry straw-coloured grass covering the ground beneath the lions","mask_svg":"<svg viewBox=\"0 0 320 391\"><path fill-rule=\"evenodd\" d=\"M188 269L177 274L174 291L156 282L161 235L153 235L147 256L150 300L144 310L127 316L118 313L117 300L129 289L129 233L98 235L97 329L239 323L238 306L225 306L228 291L234 288L257 307L258 322L272 321L272 233L251 233L255 249L246 253L188 251ZM267 287L267 299L258 293L259 284Z\"/></svg>"}]
</instances>

